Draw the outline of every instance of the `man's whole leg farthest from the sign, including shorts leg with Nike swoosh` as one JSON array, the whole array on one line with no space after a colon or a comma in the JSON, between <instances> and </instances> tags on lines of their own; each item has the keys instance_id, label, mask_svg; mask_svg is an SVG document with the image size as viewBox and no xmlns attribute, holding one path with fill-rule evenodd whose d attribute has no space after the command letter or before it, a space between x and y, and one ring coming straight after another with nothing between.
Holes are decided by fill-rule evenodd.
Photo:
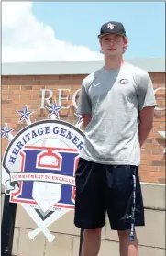
<instances>
[{"instance_id":1,"label":"man's whole leg farthest from the sign, including shorts leg with Nike swoosh","mask_svg":"<svg viewBox=\"0 0 166 256\"><path fill-rule=\"evenodd\" d=\"M127 165L107 168L107 184L107 198L110 198L107 212L111 228L118 232L120 256L138 256L136 234L134 241L130 241L133 223L135 227L145 225L138 168Z\"/></svg>"}]
</instances>

